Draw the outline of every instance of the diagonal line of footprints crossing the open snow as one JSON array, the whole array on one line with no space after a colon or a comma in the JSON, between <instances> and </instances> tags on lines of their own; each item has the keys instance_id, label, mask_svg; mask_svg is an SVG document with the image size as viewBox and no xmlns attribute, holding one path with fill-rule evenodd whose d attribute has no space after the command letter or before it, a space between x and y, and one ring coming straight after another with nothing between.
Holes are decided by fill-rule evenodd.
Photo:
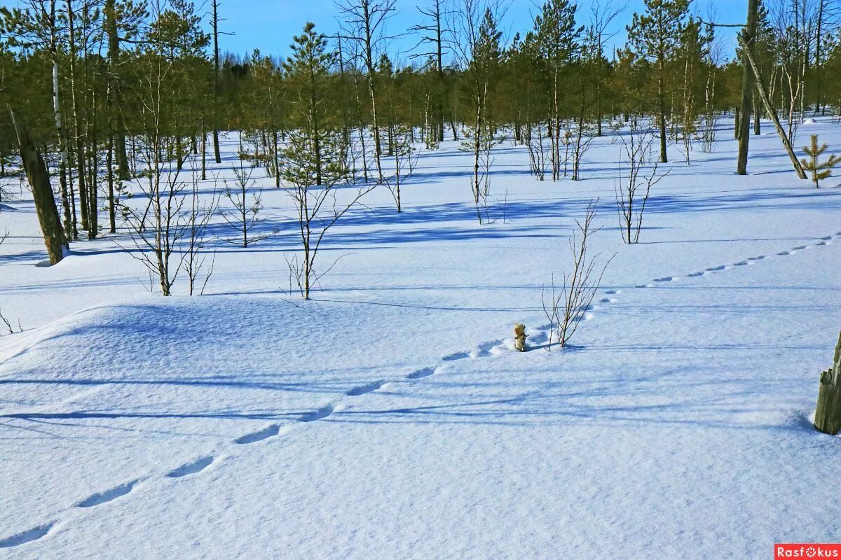
<instances>
[{"instance_id":1,"label":"diagonal line of footprints crossing the open snow","mask_svg":"<svg viewBox=\"0 0 841 560\"><path fill-rule=\"evenodd\" d=\"M810 249L812 247L822 247L833 243L833 238L841 238L841 232L837 232L834 235L828 235L826 237L820 238L817 243L807 244L807 245L800 245L798 247L789 249L787 251L781 251L776 255L785 256L796 254L800 251L804 251ZM768 259L769 255L758 255L755 257L751 257L749 259L741 260L738 263L734 264L723 264L721 266L713 266L706 270L701 270L698 272L693 272L688 275L685 275L687 278L698 278L701 276L706 276L710 274L715 274L717 272L721 272L722 270L733 269L735 267L740 266L747 266L748 264L753 264L755 262ZM635 285L635 288L652 288L656 285L662 285L665 282L672 282L675 280L679 280L680 276L664 276L663 278L657 278L653 280L653 284L640 284ZM613 299L611 296L616 295L619 290L604 290L604 294L606 297L600 299L600 303L615 303L616 299ZM587 315L585 318L589 318L590 316ZM543 326L539 327L535 330L532 330L530 333L530 338L532 343L546 343L548 340L549 327ZM494 340L488 343L480 344L477 348L470 352L457 352L452 353L442 358L442 361L452 362L460 359L477 359L477 358L484 358L487 356L492 356L500 353L505 353L510 351L513 348L513 343L508 340L500 339ZM431 375L437 374L442 372L445 368L446 364L440 364L437 366L432 366L428 368L418 369L408 375L405 376L405 379L394 380L394 382L400 382L408 379L409 381L415 381L417 379L423 379L429 377ZM387 381L374 381L373 383L368 383L366 385L359 385L357 387L348 390L345 395L356 397L361 395L368 395L368 393L373 393L374 391L381 390L385 387L391 385ZM281 435L282 433L288 432L292 430L294 427L299 426L301 424L306 424L309 422L320 421L328 416L331 416L334 412L341 412L344 407L339 406L324 406L315 411L310 411L305 413L304 415L299 417L299 421L289 423L289 424L272 424L270 426L262 428L257 432L247 433L241 437L237 437L234 440L236 445L249 445L251 443L262 442L270 437L276 437ZM181 467L175 468L174 470L168 472L164 476L170 479L180 479L185 476L189 476L191 474L198 474L202 472L205 468L208 468L211 464L219 462L225 458L225 455L205 455L204 457L197 458L189 463L183 464ZM143 483L147 479L135 479L131 482L127 482L125 484L121 484L115 488L108 489L104 492L100 492L98 494L91 495L87 497L85 500L76 504L76 508L92 508L98 505L106 504L112 500L117 500L118 498L130 494L130 492L135 489L139 484ZM18 547L23 545L27 542L36 541L47 534L56 526L56 521L52 521L50 523L45 523L43 525L34 527L33 529L29 529L28 531L23 531L13 536L9 536L0 540L0 548L8 548L8 547Z\"/></svg>"}]
</instances>

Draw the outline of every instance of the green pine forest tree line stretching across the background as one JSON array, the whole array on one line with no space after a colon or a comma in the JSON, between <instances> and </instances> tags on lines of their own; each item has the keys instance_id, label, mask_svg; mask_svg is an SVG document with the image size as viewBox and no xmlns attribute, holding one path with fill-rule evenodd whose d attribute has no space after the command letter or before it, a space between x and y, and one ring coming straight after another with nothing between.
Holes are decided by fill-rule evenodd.
<instances>
[{"instance_id":1,"label":"green pine forest tree line stretching across the background","mask_svg":"<svg viewBox=\"0 0 841 560\"><path fill-rule=\"evenodd\" d=\"M462 142L481 221L503 138L528 147L538 179L579 179L587 146L611 127L644 118L661 162L690 163L694 149L714 149L722 115L743 110L743 57L725 52L720 22L690 0L645 0L630 15L550 0L510 37L492 0L428 0L411 29L392 29L394 0L341 0L339 31L307 24L288 60L220 53L219 0L23 5L0 8L0 174L17 169L8 103L55 170L68 239L115 231L122 181L181 169L191 154L204 176L224 131L241 132L241 158L277 186L392 188L383 161L393 172L414 144ZM834 0L759 2L749 49L792 141L809 114L841 106L838 12ZM627 43L614 48L623 20ZM399 34L417 46L398 59ZM768 115L749 95L759 133ZM395 200L399 210L399 178Z\"/></svg>"}]
</instances>

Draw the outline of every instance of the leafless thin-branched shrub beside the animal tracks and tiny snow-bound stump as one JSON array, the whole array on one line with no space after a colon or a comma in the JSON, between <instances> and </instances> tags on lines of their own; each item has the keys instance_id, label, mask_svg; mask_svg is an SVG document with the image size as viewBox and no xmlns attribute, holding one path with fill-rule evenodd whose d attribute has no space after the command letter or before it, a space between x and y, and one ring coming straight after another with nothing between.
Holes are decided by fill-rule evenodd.
<instances>
[{"instance_id":1,"label":"leafless thin-branched shrub beside the animal tracks and tiny snow-bound stump","mask_svg":"<svg viewBox=\"0 0 841 560\"><path fill-rule=\"evenodd\" d=\"M597 202L590 201L584 219L575 221L578 232L573 233L569 239L572 272L563 274L563 284L560 286L555 285L553 275L548 292L546 286L541 290L543 312L549 320L547 350L552 349L553 342L564 348L573 338L599 290L607 265L611 264L612 258L600 266L600 255L590 255L590 236L598 231L592 226Z\"/></svg>"}]
</instances>

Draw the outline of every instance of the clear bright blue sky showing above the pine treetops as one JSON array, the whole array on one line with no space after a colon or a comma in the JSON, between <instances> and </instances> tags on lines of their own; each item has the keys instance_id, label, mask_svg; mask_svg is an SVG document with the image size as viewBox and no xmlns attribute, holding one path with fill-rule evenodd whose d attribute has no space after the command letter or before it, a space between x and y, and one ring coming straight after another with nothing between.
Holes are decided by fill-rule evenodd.
<instances>
[{"instance_id":1,"label":"clear bright blue sky showing above the pine treetops","mask_svg":"<svg viewBox=\"0 0 841 560\"><path fill-rule=\"evenodd\" d=\"M630 21L631 14L643 11L643 0L613 0L614 5L621 6L627 1L627 9L616 19L613 31L618 31L613 42L624 44L627 35L625 25ZM299 34L304 23L312 21L322 33L331 34L336 31L336 18L339 11L332 0L221 0L220 17L225 21L220 29L229 31L233 35L220 38L220 49L228 50L239 55L245 55L254 48L263 54L288 55L288 44L294 34ZM417 24L422 16L418 7L426 7L428 0L397 0L398 11L388 22L389 34L402 34L413 24ZM510 39L516 32L532 29L532 18L539 11L537 6L542 0L509 0L509 8L501 22L505 36ZM602 1L604 3L604 0ZM579 1L579 19L581 24L587 23L590 16L590 0ZM741 23L747 14L747 0L695 0L693 12L700 14L705 20L710 10L716 14L720 23ZM733 29L719 29L722 34L722 55L731 58L735 50L735 32ZM406 61L406 51L417 42L417 38L407 36L394 42L391 55L398 61Z\"/></svg>"}]
</instances>

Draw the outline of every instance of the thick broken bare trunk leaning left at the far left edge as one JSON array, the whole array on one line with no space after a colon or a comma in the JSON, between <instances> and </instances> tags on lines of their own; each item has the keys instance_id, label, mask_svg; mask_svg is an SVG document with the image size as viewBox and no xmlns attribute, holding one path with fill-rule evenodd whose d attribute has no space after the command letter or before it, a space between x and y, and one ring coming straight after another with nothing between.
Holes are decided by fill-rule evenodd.
<instances>
[{"instance_id":1,"label":"thick broken bare trunk leaning left at the far left edge","mask_svg":"<svg viewBox=\"0 0 841 560\"><path fill-rule=\"evenodd\" d=\"M67 249L67 239L64 229L61 228L61 217L56 207L56 198L53 195L50 185L50 173L44 163L44 158L38 149L29 139L29 130L20 118L16 118L11 105L7 105L8 113L12 116L14 132L18 136L20 144L20 159L24 163L26 178L32 187L32 197L35 202L35 211L38 213L38 221L41 225L41 232L44 233L44 244L47 253L50 254L50 264L56 264L64 258L64 250Z\"/></svg>"}]
</instances>

